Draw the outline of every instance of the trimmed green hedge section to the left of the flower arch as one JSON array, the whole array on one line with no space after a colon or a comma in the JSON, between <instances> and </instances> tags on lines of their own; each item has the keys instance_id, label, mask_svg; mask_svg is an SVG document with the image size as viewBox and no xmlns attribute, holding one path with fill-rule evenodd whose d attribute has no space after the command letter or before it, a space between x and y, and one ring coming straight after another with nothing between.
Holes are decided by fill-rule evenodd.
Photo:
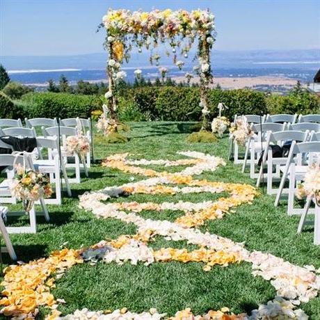
<instances>
[{"instance_id":1,"label":"trimmed green hedge section to the left of the flower arch","mask_svg":"<svg viewBox=\"0 0 320 320\"><path fill-rule=\"evenodd\" d=\"M27 93L22 100L33 105L32 118L88 118L101 104L97 96L69 93Z\"/></svg>"}]
</instances>

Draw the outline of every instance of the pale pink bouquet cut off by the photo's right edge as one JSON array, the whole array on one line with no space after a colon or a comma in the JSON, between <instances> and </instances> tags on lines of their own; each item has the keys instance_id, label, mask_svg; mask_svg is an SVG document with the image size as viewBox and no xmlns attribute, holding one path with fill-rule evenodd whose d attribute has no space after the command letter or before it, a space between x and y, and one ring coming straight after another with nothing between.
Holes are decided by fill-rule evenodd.
<instances>
[{"instance_id":1,"label":"pale pink bouquet cut off by the photo's right edge","mask_svg":"<svg viewBox=\"0 0 320 320\"><path fill-rule=\"evenodd\" d=\"M312 197L320 206L320 166L314 164L307 169L305 179L302 184L298 185L297 197Z\"/></svg>"}]
</instances>

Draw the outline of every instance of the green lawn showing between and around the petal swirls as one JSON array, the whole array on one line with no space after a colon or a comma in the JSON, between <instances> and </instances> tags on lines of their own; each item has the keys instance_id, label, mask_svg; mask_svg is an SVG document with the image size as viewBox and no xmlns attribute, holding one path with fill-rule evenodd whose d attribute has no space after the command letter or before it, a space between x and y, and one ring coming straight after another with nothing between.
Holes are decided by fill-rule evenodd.
<instances>
[{"instance_id":1,"label":"green lawn showing between and around the petal swirls","mask_svg":"<svg viewBox=\"0 0 320 320\"><path fill-rule=\"evenodd\" d=\"M187 143L188 132L179 131L174 122L138 122L130 123L128 143L106 145L97 141L95 157L103 159L109 154L129 152L138 158L179 159L177 151L195 150L214 154L227 159L227 138L215 143ZM179 126L183 127L183 126ZM161 170L159 166L154 167ZM166 168L167 169L167 168ZM181 168L168 168L177 171ZM49 255L67 243L69 248L90 246L106 238L115 238L120 234L134 234L136 227L115 219L97 219L90 212L78 208L78 195L86 191L102 189L105 186L131 182L132 175L118 170L102 168L99 165L90 169L89 178L81 179L81 184L72 185L72 198L63 198L63 205L49 206L50 223L38 218L37 234L13 234L10 238L19 259L29 261ZM215 173L203 173L201 178L211 181L250 183L247 174L241 173L239 166L227 161L227 166L218 168ZM135 180L143 179L134 176ZM216 200L221 195L209 193L168 195L132 195L116 201L152 201L163 202L178 200L199 202ZM221 220L209 221L202 231L219 234L233 241L245 242L249 250L262 250L287 259L293 264L303 266L313 264L320 267L320 249L312 244L313 232L307 230L296 234L298 217L288 217L285 202L273 207L273 196L260 195L253 205L241 205L234 214ZM173 221L182 215L177 211L145 211L144 217L168 219ZM10 219L13 225L21 224ZM157 237L154 248L174 246L189 248L186 243L165 241ZM3 255L4 263L10 263ZM254 278L247 263L234 264L225 268L216 266L209 272L202 271L202 264L179 262L155 263L150 266L138 264L104 264L96 266L81 264L67 271L58 280L53 290L57 298L65 298L67 303L60 310L63 314L74 312L77 308L107 310L127 307L131 311L142 312L157 307L159 312L175 314L177 310L191 307L197 314L209 309L217 310L223 306L232 312L246 312L266 303L275 296L275 289L262 278ZM310 319L320 319L320 298L314 298L301 308ZM41 310L40 319L45 310Z\"/></svg>"}]
</instances>

